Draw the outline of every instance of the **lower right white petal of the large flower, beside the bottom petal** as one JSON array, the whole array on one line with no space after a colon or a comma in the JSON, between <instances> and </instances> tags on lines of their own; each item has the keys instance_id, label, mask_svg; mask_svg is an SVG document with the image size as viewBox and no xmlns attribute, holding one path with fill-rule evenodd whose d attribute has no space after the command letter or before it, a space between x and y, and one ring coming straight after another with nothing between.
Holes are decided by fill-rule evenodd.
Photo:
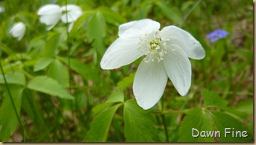
<instances>
[{"instance_id":1,"label":"lower right white petal of the large flower, beside the bottom petal","mask_svg":"<svg viewBox=\"0 0 256 145\"><path fill-rule=\"evenodd\" d=\"M178 45L168 45L163 64L169 79L181 96L187 94L191 85L191 64L187 54Z\"/></svg>"}]
</instances>

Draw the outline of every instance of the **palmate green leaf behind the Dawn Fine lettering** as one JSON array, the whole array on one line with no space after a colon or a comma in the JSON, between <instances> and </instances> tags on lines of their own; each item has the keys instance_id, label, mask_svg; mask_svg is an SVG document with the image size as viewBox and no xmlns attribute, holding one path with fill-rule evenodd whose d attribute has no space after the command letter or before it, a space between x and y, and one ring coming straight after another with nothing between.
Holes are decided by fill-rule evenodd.
<instances>
[{"instance_id":1,"label":"palmate green leaf behind the Dawn Fine lettering","mask_svg":"<svg viewBox=\"0 0 256 145\"><path fill-rule=\"evenodd\" d=\"M231 132L225 137L225 128ZM248 137L232 136L232 130L246 131ZM198 131L193 131L196 129ZM213 132L215 131L215 132ZM219 133L216 133L219 132ZM193 137L193 135L195 135ZM252 133L239 120L224 112L210 111L207 109L193 109L187 113L181 122L179 130L180 142L252 142Z\"/></svg>"}]
</instances>

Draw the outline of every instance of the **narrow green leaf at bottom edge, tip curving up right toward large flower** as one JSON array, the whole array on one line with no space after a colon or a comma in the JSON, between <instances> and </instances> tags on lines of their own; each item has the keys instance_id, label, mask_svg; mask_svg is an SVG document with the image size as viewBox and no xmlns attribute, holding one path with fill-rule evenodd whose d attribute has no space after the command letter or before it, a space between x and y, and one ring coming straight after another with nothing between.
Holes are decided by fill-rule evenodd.
<instances>
[{"instance_id":1,"label":"narrow green leaf at bottom edge, tip curving up right toward large flower","mask_svg":"<svg viewBox=\"0 0 256 145\"><path fill-rule=\"evenodd\" d=\"M92 123L90 123L90 130L84 138L86 142L104 142L107 141L107 134L110 129L113 116L116 110L121 106L118 104L110 109L104 110L96 116Z\"/></svg>"}]
</instances>

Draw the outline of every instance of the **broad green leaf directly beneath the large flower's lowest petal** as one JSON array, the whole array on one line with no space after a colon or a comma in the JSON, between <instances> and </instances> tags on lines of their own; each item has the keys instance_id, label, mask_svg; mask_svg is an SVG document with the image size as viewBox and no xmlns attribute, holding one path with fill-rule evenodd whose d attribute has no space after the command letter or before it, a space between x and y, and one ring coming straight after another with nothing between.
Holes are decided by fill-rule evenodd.
<instances>
[{"instance_id":1,"label":"broad green leaf directly beneath the large flower's lowest petal","mask_svg":"<svg viewBox=\"0 0 256 145\"><path fill-rule=\"evenodd\" d=\"M137 105L136 100L128 100L124 107L125 138L128 142L158 141L158 132L154 127L156 120Z\"/></svg>"}]
</instances>

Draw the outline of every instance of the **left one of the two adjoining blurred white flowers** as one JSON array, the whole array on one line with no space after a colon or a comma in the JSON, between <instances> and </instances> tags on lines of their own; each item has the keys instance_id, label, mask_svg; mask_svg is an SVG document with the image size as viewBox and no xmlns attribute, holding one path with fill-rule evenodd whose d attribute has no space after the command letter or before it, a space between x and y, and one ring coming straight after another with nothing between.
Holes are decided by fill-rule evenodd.
<instances>
[{"instance_id":1,"label":"left one of the two adjoining blurred white flowers","mask_svg":"<svg viewBox=\"0 0 256 145\"><path fill-rule=\"evenodd\" d=\"M57 22L60 21L62 10L57 4L47 4L43 7L40 7L37 14L40 17L40 22L43 24L49 25L47 30L51 30L54 25L57 25Z\"/></svg>"}]
</instances>

